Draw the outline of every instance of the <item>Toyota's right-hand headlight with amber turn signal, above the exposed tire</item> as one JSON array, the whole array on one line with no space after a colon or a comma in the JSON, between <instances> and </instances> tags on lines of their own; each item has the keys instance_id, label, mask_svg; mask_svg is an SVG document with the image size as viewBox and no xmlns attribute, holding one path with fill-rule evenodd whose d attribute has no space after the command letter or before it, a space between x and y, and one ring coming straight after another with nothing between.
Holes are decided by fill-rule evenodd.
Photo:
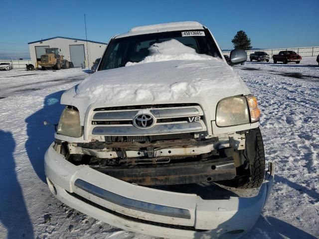
<instances>
[{"instance_id":1,"label":"Toyota's right-hand headlight with amber turn signal, above the exposed tire","mask_svg":"<svg viewBox=\"0 0 319 239\"><path fill-rule=\"evenodd\" d=\"M235 96L221 100L217 105L216 124L220 127L257 122L260 111L254 96Z\"/></svg>"}]
</instances>

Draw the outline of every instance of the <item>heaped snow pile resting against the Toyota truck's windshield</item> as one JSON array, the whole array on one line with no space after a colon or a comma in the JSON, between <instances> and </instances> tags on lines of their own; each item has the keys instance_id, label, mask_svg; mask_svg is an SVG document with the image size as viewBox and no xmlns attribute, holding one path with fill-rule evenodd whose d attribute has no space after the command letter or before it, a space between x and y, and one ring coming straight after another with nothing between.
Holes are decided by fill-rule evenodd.
<instances>
[{"instance_id":1,"label":"heaped snow pile resting against the Toyota truck's windshield","mask_svg":"<svg viewBox=\"0 0 319 239\"><path fill-rule=\"evenodd\" d=\"M212 56L196 53L195 49L185 46L175 39L154 43L149 48L150 55L140 62L128 62L126 66L171 60L211 60Z\"/></svg>"}]
</instances>

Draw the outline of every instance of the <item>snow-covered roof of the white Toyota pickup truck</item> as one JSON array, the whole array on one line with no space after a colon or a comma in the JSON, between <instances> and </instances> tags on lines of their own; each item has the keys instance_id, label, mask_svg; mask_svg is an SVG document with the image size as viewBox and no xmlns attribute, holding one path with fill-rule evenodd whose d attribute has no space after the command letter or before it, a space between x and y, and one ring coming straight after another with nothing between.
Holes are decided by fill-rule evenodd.
<instances>
[{"instance_id":1,"label":"snow-covered roof of the white Toyota pickup truck","mask_svg":"<svg viewBox=\"0 0 319 239\"><path fill-rule=\"evenodd\" d=\"M155 32L195 30L195 29L203 29L203 25L197 21L169 22L169 23L163 23L163 24L134 27L131 30L129 30L127 33L117 35L115 38L155 33Z\"/></svg>"}]
</instances>

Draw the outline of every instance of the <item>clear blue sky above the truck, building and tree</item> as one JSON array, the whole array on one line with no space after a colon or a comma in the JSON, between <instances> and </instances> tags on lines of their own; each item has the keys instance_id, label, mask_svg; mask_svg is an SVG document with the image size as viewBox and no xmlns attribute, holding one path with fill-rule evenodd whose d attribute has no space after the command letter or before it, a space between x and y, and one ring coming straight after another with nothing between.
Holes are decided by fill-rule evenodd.
<instances>
[{"instance_id":1,"label":"clear blue sky above the truck, building and tree","mask_svg":"<svg viewBox=\"0 0 319 239\"><path fill-rule=\"evenodd\" d=\"M102 42L134 26L194 20L222 49L232 49L238 30L254 48L319 45L319 0L9 0L1 3L0 53L27 53L27 42L54 36L85 39L84 13L88 39Z\"/></svg>"}]
</instances>

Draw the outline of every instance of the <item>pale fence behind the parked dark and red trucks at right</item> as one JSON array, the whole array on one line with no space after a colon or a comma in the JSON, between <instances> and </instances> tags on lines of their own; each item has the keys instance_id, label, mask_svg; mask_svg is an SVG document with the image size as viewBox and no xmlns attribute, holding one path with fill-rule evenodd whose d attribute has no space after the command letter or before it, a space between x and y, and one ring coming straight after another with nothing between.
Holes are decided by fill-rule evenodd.
<instances>
[{"instance_id":1,"label":"pale fence behind the parked dark and red trucks at right","mask_svg":"<svg viewBox=\"0 0 319 239\"><path fill-rule=\"evenodd\" d=\"M249 50L247 52L247 56L249 58L249 55L251 53L254 53L255 51L264 51L266 52L270 58L273 57L273 55L278 54L280 51L295 51L297 54L304 56L318 56L319 54L319 46L312 46L312 47L295 47L295 48L278 48L278 49L262 49L262 50ZM230 51L223 51L223 55L229 56Z\"/></svg>"}]
</instances>

